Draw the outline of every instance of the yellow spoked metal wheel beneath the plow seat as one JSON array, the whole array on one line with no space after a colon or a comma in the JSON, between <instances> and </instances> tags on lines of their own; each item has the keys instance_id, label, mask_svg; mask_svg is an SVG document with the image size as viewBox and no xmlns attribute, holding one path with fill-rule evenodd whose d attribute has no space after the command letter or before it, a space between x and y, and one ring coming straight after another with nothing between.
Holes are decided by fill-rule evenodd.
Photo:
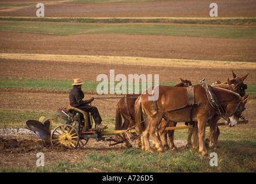
<instances>
[{"instance_id":1,"label":"yellow spoked metal wheel beneath the plow seat","mask_svg":"<svg viewBox=\"0 0 256 184\"><path fill-rule=\"evenodd\" d=\"M71 125L60 125L51 133L51 144L76 148L79 144L79 134Z\"/></svg>"}]
</instances>

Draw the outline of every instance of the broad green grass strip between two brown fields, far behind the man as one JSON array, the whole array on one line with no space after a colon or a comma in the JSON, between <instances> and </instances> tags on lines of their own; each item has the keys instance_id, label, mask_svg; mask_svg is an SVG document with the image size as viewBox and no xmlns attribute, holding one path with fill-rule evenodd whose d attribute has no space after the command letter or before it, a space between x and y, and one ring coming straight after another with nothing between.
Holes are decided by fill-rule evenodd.
<instances>
[{"instance_id":1,"label":"broad green grass strip between two brown fields, far behind the man","mask_svg":"<svg viewBox=\"0 0 256 184\"><path fill-rule=\"evenodd\" d=\"M76 22L1 21L0 30L47 34L125 33L202 37L256 37L255 26L196 24L87 24Z\"/></svg>"}]
</instances>

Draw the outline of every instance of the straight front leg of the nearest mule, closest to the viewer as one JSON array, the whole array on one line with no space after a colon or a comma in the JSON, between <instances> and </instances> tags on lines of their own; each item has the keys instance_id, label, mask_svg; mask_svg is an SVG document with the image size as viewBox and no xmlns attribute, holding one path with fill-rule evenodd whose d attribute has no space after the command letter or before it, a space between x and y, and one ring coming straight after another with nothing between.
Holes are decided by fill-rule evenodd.
<instances>
[{"instance_id":1,"label":"straight front leg of the nearest mule, closest to the viewer","mask_svg":"<svg viewBox=\"0 0 256 184\"><path fill-rule=\"evenodd\" d=\"M203 156L207 155L207 150L205 148L205 127L207 119L205 117L198 118L198 139L199 139L199 152Z\"/></svg>"}]
</instances>

